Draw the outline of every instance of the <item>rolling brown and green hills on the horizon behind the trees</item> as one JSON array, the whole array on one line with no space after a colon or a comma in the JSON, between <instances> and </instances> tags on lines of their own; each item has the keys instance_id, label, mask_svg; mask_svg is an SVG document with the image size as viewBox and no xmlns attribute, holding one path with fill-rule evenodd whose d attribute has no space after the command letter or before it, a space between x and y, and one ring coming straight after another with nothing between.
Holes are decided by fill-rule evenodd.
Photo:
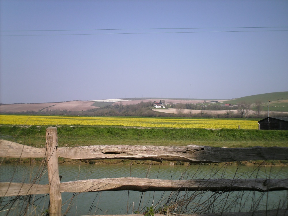
<instances>
[{"instance_id":1,"label":"rolling brown and green hills on the horizon behind the trees","mask_svg":"<svg viewBox=\"0 0 288 216\"><path fill-rule=\"evenodd\" d=\"M180 103L194 103L193 101L222 101L222 103L228 103L228 104L237 104L241 103L242 101L246 101L248 103L254 104L256 101L262 102L263 111L268 111L268 101L270 111L288 111L288 91L287 92L272 92L272 93L266 93L266 94L256 94L251 96L245 96L241 98L236 98L232 100L221 100L221 99L192 99L192 98L119 98L120 101L123 100L128 102L130 101L130 104L140 103L141 101L148 102L149 100L178 100L181 101ZM118 100L119 100L118 99ZM115 100L115 99L113 99ZM133 101L132 101L133 100ZM107 101L107 102L106 102ZM72 111L84 111L89 109L95 109L97 107L105 107L107 105L111 105L113 103L119 103L119 102L108 102L110 100L104 100L104 101L67 101L67 102L58 102L58 103L37 103L37 104L11 104L11 105L0 105L0 112L1 113L7 113L7 112L22 112L22 111L45 111L45 110L72 110ZM179 103L179 102L176 102ZM198 102L196 102L198 103ZM201 103L201 102L200 102Z\"/></svg>"}]
</instances>

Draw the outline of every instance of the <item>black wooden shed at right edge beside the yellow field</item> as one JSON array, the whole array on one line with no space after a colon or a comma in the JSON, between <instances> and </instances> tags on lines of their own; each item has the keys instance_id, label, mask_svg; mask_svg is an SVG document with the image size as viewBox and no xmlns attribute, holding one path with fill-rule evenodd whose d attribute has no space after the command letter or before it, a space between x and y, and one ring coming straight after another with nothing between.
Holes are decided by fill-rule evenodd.
<instances>
[{"instance_id":1,"label":"black wooden shed at right edge beside the yellow field","mask_svg":"<svg viewBox=\"0 0 288 216\"><path fill-rule=\"evenodd\" d=\"M288 130L288 117L267 117L258 124L259 130Z\"/></svg>"}]
</instances>

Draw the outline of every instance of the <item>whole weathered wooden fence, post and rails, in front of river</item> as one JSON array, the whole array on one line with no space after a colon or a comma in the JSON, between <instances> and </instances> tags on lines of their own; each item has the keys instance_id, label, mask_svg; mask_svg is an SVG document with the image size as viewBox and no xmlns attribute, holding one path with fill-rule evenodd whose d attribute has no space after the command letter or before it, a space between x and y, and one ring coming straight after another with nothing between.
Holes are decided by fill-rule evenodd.
<instances>
[{"instance_id":1,"label":"whole weathered wooden fence, post and rails, in front of river","mask_svg":"<svg viewBox=\"0 0 288 216\"><path fill-rule=\"evenodd\" d=\"M48 185L0 183L0 196L50 194L50 215L61 215L62 192L98 192L115 190L145 191L275 191L288 190L288 179L200 179L161 180L147 178L88 179L60 183L58 157L70 159L131 159L191 163L233 162L245 160L288 160L288 147L219 148L208 146L137 146L93 145L82 147L57 146L57 128L46 129L46 148L36 148L0 140L2 158L47 158ZM263 215L253 213L221 213L221 215ZM265 215L288 215L288 209L265 211ZM164 216L155 214L156 216ZM197 214L202 216L215 213ZM134 214L134 216L137 216ZM138 215L139 216L139 215ZM142 215L143 216L143 215ZM191 216L191 215L190 215Z\"/></svg>"}]
</instances>

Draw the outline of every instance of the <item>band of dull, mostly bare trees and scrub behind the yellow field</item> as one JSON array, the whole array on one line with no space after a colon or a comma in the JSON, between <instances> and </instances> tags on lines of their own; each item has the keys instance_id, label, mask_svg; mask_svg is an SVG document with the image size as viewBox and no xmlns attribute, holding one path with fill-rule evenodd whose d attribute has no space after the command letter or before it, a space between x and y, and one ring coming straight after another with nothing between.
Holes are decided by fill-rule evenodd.
<instances>
[{"instance_id":1,"label":"band of dull, mostly bare trees and scrub behind the yellow field","mask_svg":"<svg viewBox=\"0 0 288 216\"><path fill-rule=\"evenodd\" d=\"M25 115L81 115L81 116L146 116L146 117L195 117L195 118L266 118L268 113L259 114L259 112L255 112L253 110L249 111L247 117L244 117L239 112L231 111L231 107L223 107L221 105L194 105L194 104L182 104L182 111L178 113L164 113L164 112L156 112L152 109L152 102L141 102L138 104L132 105L122 105L121 103L118 105L107 105L103 108L95 108L87 111L67 111L67 110L48 110L48 111L26 111L26 112L18 112L17 114L25 114ZM168 106L169 108L176 108L177 105ZM199 113L184 112L185 109L190 110L201 110ZM216 111L226 110L225 113L217 113ZM12 114L12 113L11 113ZM270 116L282 116L277 113L274 114L270 112ZM283 114L283 116L285 116Z\"/></svg>"}]
</instances>

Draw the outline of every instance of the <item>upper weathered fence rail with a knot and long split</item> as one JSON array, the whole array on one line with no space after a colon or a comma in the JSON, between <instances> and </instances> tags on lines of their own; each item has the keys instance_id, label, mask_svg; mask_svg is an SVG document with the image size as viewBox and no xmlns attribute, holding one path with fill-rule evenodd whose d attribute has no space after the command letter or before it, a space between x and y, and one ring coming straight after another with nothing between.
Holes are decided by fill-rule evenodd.
<instances>
[{"instance_id":1,"label":"upper weathered fence rail with a knot and long split","mask_svg":"<svg viewBox=\"0 0 288 216\"><path fill-rule=\"evenodd\" d=\"M0 157L43 158L46 148L36 148L11 141L0 141ZM219 148L209 146L92 145L59 147L58 157L70 159L131 159L221 163L244 160L288 160L287 147Z\"/></svg>"}]
</instances>

